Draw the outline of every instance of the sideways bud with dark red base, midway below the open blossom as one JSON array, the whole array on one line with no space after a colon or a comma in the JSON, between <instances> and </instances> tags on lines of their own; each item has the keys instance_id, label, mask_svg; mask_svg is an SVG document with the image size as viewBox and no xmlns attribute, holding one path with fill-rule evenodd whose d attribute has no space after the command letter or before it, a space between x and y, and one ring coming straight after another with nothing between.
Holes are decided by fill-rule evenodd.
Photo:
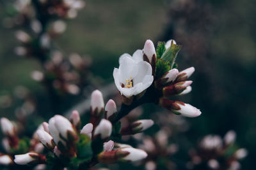
<instances>
[{"instance_id":1,"label":"sideways bud with dark red base, midway below the open blossom","mask_svg":"<svg viewBox=\"0 0 256 170\"><path fill-rule=\"evenodd\" d=\"M131 125L123 127L120 131L122 135L136 134L145 131L149 127L154 125L154 121L151 119L137 120L132 122Z\"/></svg>"}]
</instances>

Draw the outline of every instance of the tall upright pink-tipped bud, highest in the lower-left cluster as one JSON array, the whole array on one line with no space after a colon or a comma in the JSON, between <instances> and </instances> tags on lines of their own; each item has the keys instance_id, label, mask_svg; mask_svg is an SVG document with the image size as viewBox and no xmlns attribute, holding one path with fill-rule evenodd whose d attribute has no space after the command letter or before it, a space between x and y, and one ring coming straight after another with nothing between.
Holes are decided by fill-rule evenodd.
<instances>
[{"instance_id":1,"label":"tall upright pink-tipped bud, highest in the lower-left cluster","mask_svg":"<svg viewBox=\"0 0 256 170\"><path fill-rule=\"evenodd\" d=\"M92 111L97 110L96 112L99 113L101 110L103 110L104 100L103 100L102 93L99 90L94 90L92 92L91 99L92 99L91 101Z\"/></svg>"}]
</instances>

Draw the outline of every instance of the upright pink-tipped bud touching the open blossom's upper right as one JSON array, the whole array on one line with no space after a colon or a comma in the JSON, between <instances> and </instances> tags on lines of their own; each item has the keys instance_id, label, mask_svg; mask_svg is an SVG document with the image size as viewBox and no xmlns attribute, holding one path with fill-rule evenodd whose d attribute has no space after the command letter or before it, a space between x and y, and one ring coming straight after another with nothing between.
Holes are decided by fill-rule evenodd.
<instances>
[{"instance_id":1,"label":"upright pink-tipped bud touching the open blossom's upper right","mask_svg":"<svg viewBox=\"0 0 256 170\"><path fill-rule=\"evenodd\" d=\"M143 48L143 59L151 64L154 57L156 58L156 49L154 43L148 39Z\"/></svg>"}]
</instances>

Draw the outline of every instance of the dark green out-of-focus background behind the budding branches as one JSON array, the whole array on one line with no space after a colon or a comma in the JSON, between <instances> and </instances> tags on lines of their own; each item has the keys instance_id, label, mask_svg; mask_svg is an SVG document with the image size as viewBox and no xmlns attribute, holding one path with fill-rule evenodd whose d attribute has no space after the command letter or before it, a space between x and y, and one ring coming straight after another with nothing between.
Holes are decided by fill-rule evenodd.
<instances>
[{"instance_id":1,"label":"dark green out-of-focus background behind the budding branches","mask_svg":"<svg viewBox=\"0 0 256 170\"><path fill-rule=\"evenodd\" d=\"M183 143L180 152L170 159L177 160L177 169L186 169L189 156L185 152L196 147L199 139L207 134L224 136L234 130L237 145L248 150L241 169L255 169L255 1L86 0L76 18L65 19L67 28L55 37L54 46L65 53L64 58L76 53L84 56L90 66L80 76L88 78L79 93L70 87L70 93L61 92L58 99L46 92L44 84L35 81L41 75L35 71L42 71L38 59L17 55L20 42L15 35L24 27L20 28L19 19L18 26L10 24L13 16L10 2L0 2L1 117L14 119L15 115L26 112L31 118L36 117L33 124L38 125L52 114L65 113L90 97L93 89L113 82L113 67L118 67L122 53L132 54L143 48L147 39L156 45L157 41L175 39L182 45L177 57L178 69L190 66L196 69L191 76L193 90L182 101L200 108L202 115L186 118L189 129L182 136L189 139L189 144ZM52 108L51 100L58 101L55 103L58 106ZM152 108L156 109L145 107L144 117ZM178 136L175 141L182 143L183 137Z\"/></svg>"}]
</instances>

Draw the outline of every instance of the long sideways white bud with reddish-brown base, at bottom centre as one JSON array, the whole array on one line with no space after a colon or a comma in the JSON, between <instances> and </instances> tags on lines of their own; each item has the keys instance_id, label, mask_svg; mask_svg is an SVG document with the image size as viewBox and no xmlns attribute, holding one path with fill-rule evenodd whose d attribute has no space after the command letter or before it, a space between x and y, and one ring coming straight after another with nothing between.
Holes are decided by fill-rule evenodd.
<instances>
[{"instance_id":1,"label":"long sideways white bud with reddish-brown base, at bottom centre","mask_svg":"<svg viewBox=\"0 0 256 170\"><path fill-rule=\"evenodd\" d=\"M120 148L118 150L102 152L98 155L100 163L132 162L145 159L147 153L136 148Z\"/></svg>"}]
</instances>

